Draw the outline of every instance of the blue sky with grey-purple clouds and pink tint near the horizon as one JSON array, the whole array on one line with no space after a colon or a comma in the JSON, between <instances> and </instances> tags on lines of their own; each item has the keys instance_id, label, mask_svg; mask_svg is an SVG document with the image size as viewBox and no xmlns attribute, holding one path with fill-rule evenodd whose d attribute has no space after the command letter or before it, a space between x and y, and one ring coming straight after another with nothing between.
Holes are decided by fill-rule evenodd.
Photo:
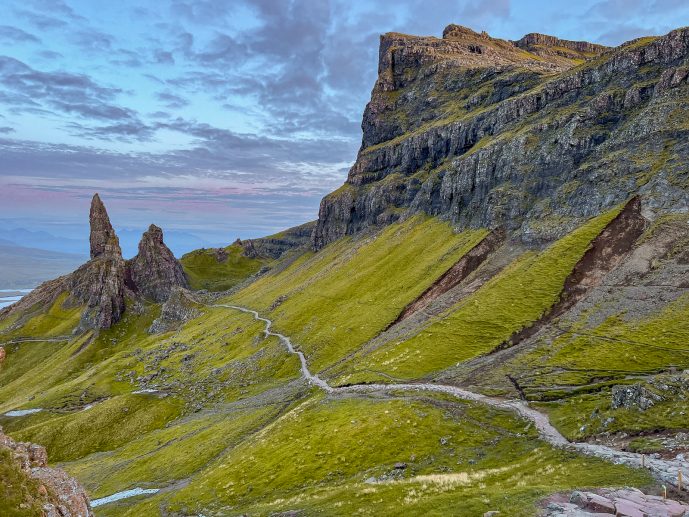
<instances>
[{"instance_id":1,"label":"blue sky with grey-purple clouds and pink tint near the horizon","mask_svg":"<svg viewBox=\"0 0 689 517\"><path fill-rule=\"evenodd\" d=\"M173 250L313 220L346 179L388 31L618 45L685 0L0 0L0 240L86 251L90 198ZM24 231L26 230L26 231ZM23 231L23 233L22 233ZM6 237L5 237L6 238ZM66 244L65 244L66 245Z\"/></svg>"}]
</instances>

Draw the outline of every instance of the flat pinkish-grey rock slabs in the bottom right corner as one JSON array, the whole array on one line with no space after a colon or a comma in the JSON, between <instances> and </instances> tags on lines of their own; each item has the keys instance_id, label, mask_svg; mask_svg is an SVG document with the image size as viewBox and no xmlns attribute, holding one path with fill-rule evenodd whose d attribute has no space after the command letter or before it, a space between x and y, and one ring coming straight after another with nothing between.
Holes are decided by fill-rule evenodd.
<instances>
[{"instance_id":1,"label":"flat pinkish-grey rock slabs in the bottom right corner","mask_svg":"<svg viewBox=\"0 0 689 517\"><path fill-rule=\"evenodd\" d=\"M634 488L573 492L569 501L552 497L542 512L545 517L589 517L615 515L618 517L682 517L689 514L689 506L659 496L646 495Z\"/></svg>"}]
</instances>

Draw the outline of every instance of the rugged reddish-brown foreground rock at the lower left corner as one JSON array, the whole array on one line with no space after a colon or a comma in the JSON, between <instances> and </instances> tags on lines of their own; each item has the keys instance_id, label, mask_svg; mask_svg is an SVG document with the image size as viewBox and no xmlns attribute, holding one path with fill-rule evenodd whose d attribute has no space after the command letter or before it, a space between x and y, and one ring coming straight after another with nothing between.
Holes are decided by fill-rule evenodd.
<instances>
[{"instance_id":1,"label":"rugged reddish-brown foreground rock at the lower left corner","mask_svg":"<svg viewBox=\"0 0 689 517\"><path fill-rule=\"evenodd\" d=\"M25 490L33 506L40 506L46 517L91 517L93 512L86 491L64 470L48 467L48 454L44 447L33 443L15 442L0 427L0 450L9 451L19 479L33 480ZM33 487L35 493L31 493ZM11 488L11 487L8 487ZM17 487L13 487L15 490ZM2 499L3 487L0 487ZM22 502L28 509L29 502ZM8 509L21 511L22 508Z\"/></svg>"}]
</instances>

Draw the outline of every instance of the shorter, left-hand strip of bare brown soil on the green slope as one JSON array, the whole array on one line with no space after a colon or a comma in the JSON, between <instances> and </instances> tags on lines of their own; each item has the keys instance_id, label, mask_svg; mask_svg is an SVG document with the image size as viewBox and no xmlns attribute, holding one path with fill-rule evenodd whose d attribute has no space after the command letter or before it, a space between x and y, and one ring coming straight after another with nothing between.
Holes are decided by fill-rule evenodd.
<instances>
[{"instance_id":1,"label":"shorter, left-hand strip of bare brown soil on the green slope","mask_svg":"<svg viewBox=\"0 0 689 517\"><path fill-rule=\"evenodd\" d=\"M415 312L428 307L433 300L459 285L469 274L476 270L490 253L505 240L504 230L493 230L471 251L459 259L450 269L426 289L416 300L407 305L397 319L390 323L385 330L408 318Z\"/></svg>"}]
</instances>

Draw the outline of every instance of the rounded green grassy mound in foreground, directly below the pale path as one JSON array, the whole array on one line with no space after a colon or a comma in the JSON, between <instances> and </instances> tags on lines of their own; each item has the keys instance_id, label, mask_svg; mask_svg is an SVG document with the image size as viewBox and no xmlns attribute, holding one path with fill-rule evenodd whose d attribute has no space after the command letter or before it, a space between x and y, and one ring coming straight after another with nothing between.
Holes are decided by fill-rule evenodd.
<instances>
[{"instance_id":1,"label":"rounded green grassy mound in foreground, directly below the pale path","mask_svg":"<svg viewBox=\"0 0 689 517\"><path fill-rule=\"evenodd\" d=\"M393 480L397 462L407 468ZM388 476L379 484L369 477ZM504 412L444 398L313 397L248 438L181 490L123 512L159 505L204 514L533 515L558 489L648 483L645 473L543 444ZM130 503L131 504L131 503ZM153 510L154 511L154 510Z\"/></svg>"}]
</instances>

